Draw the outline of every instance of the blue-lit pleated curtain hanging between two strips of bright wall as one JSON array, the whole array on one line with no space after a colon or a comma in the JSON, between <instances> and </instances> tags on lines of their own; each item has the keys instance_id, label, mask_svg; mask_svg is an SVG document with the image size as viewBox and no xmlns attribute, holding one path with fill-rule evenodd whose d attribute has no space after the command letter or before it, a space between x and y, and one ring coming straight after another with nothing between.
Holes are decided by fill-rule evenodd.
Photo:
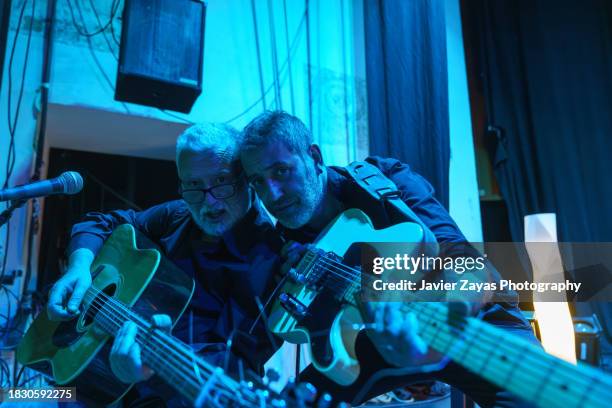
<instances>
[{"instance_id":1,"label":"blue-lit pleated curtain hanging between two strips of bright wall","mask_svg":"<svg viewBox=\"0 0 612 408\"><path fill-rule=\"evenodd\" d=\"M364 3L370 152L408 163L448 208L448 84L442 0Z\"/></svg>"}]
</instances>

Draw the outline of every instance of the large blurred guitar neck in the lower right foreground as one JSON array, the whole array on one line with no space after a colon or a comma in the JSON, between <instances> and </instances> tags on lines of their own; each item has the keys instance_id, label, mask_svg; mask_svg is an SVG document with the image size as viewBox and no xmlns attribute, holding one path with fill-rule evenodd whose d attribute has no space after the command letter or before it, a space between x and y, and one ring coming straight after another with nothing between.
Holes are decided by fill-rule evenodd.
<instances>
[{"instance_id":1,"label":"large blurred guitar neck in the lower right foreground","mask_svg":"<svg viewBox=\"0 0 612 408\"><path fill-rule=\"evenodd\" d=\"M404 308L416 314L432 348L537 406L603 408L612 401L612 378L599 370L570 364L445 304L413 302Z\"/></svg>"}]
</instances>

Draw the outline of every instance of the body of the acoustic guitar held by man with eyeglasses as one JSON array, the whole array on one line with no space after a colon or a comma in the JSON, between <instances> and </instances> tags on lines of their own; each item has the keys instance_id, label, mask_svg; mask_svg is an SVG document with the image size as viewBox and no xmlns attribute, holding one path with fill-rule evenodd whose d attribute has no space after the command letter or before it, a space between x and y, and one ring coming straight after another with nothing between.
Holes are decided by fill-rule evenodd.
<instances>
[{"instance_id":1,"label":"body of the acoustic guitar held by man with eyeglasses","mask_svg":"<svg viewBox=\"0 0 612 408\"><path fill-rule=\"evenodd\" d=\"M144 318L167 314L174 324L191 299L194 283L154 248L132 226L119 226L92 264L92 286ZM100 302L84 301L82 313L65 322L51 321L43 311L17 349L21 364L52 375L57 384L75 386L79 400L88 406L108 405L131 387L112 374L111 336L93 324L91 314Z\"/></svg>"}]
</instances>

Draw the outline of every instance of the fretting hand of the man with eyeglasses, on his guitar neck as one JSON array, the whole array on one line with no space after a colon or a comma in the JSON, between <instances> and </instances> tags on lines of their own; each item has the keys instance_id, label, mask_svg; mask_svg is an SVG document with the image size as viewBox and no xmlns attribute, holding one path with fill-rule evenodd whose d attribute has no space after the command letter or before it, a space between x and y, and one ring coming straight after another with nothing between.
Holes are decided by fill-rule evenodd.
<instances>
[{"instance_id":1,"label":"fretting hand of the man with eyeglasses, on his guitar neck","mask_svg":"<svg viewBox=\"0 0 612 408\"><path fill-rule=\"evenodd\" d=\"M172 320L168 315L154 315L152 323L156 328L170 333ZM125 322L115 336L109 356L111 370L126 384L148 380L154 374L151 368L142 363L137 336L136 323Z\"/></svg>"}]
</instances>

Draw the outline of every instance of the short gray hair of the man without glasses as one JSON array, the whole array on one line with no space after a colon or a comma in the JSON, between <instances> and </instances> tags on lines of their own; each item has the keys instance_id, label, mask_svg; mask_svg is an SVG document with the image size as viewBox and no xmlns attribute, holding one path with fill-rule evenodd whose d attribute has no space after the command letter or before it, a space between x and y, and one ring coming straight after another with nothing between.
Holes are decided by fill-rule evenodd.
<instances>
[{"instance_id":1,"label":"short gray hair of the man without glasses","mask_svg":"<svg viewBox=\"0 0 612 408\"><path fill-rule=\"evenodd\" d=\"M312 145L312 133L296 116L266 111L244 128L242 142L245 150L282 142L290 151L303 155Z\"/></svg>"}]
</instances>

